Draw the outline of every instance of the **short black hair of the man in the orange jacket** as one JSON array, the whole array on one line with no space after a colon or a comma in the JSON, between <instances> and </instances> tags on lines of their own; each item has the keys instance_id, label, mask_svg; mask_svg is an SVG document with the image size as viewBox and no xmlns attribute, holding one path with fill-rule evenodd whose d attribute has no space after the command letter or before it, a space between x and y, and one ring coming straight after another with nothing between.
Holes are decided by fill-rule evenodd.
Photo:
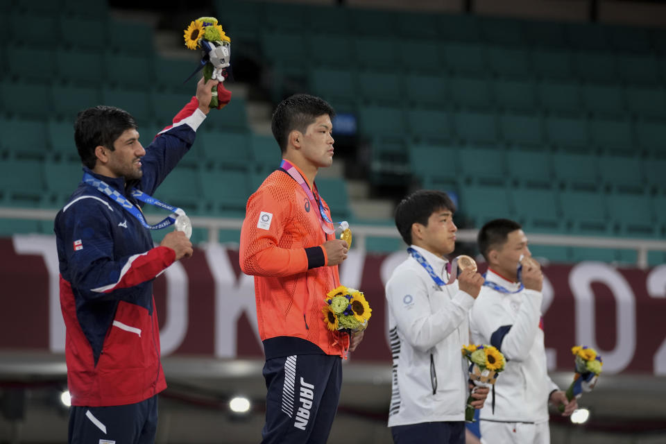
<instances>
[{"instance_id":1,"label":"short black hair of the man in the orange jacket","mask_svg":"<svg viewBox=\"0 0 666 444\"><path fill-rule=\"evenodd\" d=\"M287 151L289 133L298 130L305 133L307 127L323 114L333 119L335 111L325 100L309 94L294 94L278 104L273 112L271 130L280 145L280 151Z\"/></svg>"}]
</instances>

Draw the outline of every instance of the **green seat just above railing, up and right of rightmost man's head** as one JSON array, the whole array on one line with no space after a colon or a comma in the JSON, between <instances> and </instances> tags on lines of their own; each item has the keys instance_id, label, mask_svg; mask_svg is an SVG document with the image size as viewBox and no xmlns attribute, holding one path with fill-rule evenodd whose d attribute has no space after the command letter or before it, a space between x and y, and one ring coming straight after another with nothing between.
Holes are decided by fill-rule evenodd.
<instances>
[{"instance_id":1,"label":"green seat just above railing, up and right of rightmost man's head","mask_svg":"<svg viewBox=\"0 0 666 444\"><path fill-rule=\"evenodd\" d=\"M529 232L562 232L562 219L556 191L550 189L511 190L515 214Z\"/></svg>"}]
</instances>

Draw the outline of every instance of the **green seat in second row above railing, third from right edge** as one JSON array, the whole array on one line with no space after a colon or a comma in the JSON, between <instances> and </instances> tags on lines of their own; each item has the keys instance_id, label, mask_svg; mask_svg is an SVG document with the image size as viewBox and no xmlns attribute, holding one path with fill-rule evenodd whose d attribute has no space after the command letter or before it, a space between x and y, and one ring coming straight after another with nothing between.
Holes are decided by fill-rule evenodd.
<instances>
[{"instance_id":1,"label":"green seat in second row above railing, third from right edge","mask_svg":"<svg viewBox=\"0 0 666 444\"><path fill-rule=\"evenodd\" d=\"M583 153L554 153L556 182L570 190L596 191L599 188L599 160Z\"/></svg>"}]
</instances>

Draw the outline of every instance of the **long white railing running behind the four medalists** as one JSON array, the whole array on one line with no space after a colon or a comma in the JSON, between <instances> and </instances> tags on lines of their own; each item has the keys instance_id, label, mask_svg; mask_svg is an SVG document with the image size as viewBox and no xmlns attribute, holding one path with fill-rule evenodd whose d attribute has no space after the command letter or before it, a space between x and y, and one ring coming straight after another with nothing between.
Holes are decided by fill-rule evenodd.
<instances>
[{"instance_id":1,"label":"long white railing running behind the four medalists","mask_svg":"<svg viewBox=\"0 0 666 444\"><path fill-rule=\"evenodd\" d=\"M52 221L56 217L57 210L43 210L37 208L10 208L0 207L0 219L31 219L39 221ZM148 215L146 219L150 223L161 221L164 216ZM243 221L225 217L203 217L192 216L192 225L208 230L208 241L219 241L218 231L240 230ZM366 239L368 237L393 237L400 239L398 230L393 226L386 225L359 225L352 227L354 233L353 248L366 250ZM478 230L459 230L456 237L463 242L476 242ZM531 245L549 246L573 246L592 248L620 248L623 250L635 250L637 253L636 266L647 268L647 252L666 251L666 241L657 239L627 239L616 237L583 237L569 236L566 234L529 234Z\"/></svg>"}]
</instances>

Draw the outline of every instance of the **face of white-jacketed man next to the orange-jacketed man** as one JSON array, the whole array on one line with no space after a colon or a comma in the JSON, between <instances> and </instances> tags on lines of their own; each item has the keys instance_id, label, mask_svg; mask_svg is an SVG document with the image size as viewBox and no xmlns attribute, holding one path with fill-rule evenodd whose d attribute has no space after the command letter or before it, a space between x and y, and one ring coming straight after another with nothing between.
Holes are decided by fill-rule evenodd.
<instances>
[{"instance_id":1,"label":"face of white-jacketed man next to the orange-jacketed man","mask_svg":"<svg viewBox=\"0 0 666 444\"><path fill-rule=\"evenodd\" d=\"M412 241L440 257L448 255L456 248L456 231L451 210L442 208L428 218L428 225L415 223L412 228Z\"/></svg>"}]
</instances>

